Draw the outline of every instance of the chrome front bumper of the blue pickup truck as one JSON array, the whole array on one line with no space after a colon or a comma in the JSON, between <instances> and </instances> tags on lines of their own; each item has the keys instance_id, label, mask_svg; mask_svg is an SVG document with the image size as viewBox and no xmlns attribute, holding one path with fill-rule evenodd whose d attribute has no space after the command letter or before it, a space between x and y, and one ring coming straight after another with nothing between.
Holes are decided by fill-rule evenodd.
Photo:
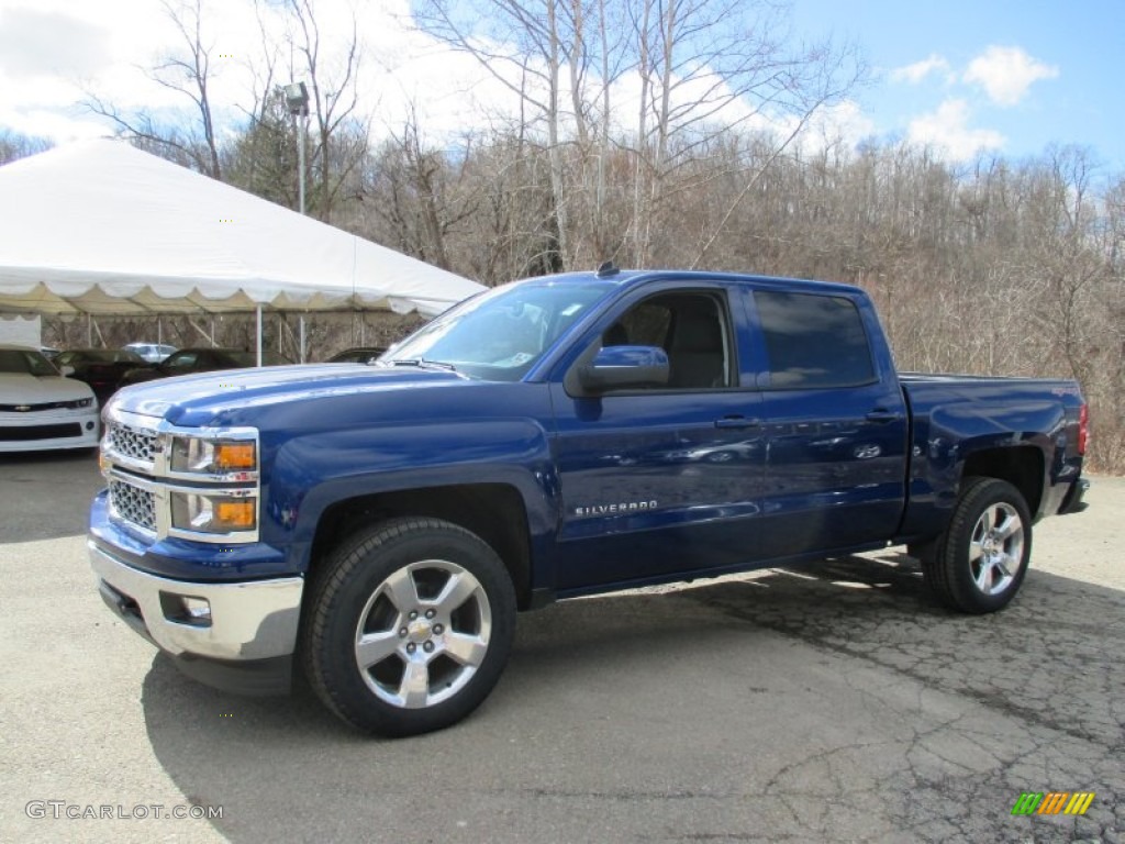
<instances>
[{"instance_id":1,"label":"chrome front bumper of the blue pickup truck","mask_svg":"<svg viewBox=\"0 0 1125 844\"><path fill-rule=\"evenodd\" d=\"M240 661L289 656L296 648L305 585L300 577L251 583L172 581L127 566L93 542L89 549L102 599L162 650ZM202 607L204 601L207 614L187 611Z\"/></svg>"}]
</instances>

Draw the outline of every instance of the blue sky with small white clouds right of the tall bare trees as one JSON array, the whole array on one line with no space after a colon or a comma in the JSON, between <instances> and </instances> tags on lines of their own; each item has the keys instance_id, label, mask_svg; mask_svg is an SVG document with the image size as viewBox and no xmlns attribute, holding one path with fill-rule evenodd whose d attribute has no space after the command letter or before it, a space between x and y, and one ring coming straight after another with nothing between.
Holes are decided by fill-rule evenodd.
<instances>
[{"instance_id":1,"label":"blue sky with small white clouds right of the tall bare trees","mask_svg":"<svg viewBox=\"0 0 1125 844\"><path fill-rule=\"evenodd\" d=\"M879 81L857 101L879 136L928 128L1011 159L1077 144L1125 171L1123 0L796 0L792 9L798 30L864 48Z\"/></svg>"}]
</instances>

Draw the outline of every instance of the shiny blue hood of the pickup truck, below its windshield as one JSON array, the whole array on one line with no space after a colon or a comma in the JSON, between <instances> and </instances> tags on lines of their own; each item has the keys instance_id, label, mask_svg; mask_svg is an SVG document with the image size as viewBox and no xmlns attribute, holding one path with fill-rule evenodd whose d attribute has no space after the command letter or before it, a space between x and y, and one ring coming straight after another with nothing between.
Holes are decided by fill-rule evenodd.
<instances>
[{"instance_id":1,"label":"shiny blue hood of the pickup truck, below its windshield","mask_svg":"<svg viewBox=\"0 0 1125 844\"><path fill-rule=\"evenodd\" d=\"M119 390L111 411L155 416L172 424L233 423L235 414L259 415L271 405L366 393L429 389L465 384L465 376L423 367L323 363L226 369L136 384Z\"/></svg>"}]
</instances>

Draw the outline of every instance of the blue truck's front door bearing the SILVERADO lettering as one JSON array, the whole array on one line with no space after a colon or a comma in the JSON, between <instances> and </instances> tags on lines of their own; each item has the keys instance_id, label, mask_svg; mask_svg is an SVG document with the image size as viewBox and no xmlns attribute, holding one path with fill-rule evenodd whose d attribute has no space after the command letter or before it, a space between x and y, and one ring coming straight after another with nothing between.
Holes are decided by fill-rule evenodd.
<instances>
[{"instance_id":1,"label":"blue truck's front door bearing the SILVERADO lettering","mask_svg":"<svg viewBox=\"0 0 1125 844\"><path fill-rule=\"evenodd\" d=\"M724 290L658 294L594 342L664 348L666 386L576 398L552 385L557 592L690 576L758 555L760 394L739 385L732 325Z\"/></svg>"}]
</instances>

